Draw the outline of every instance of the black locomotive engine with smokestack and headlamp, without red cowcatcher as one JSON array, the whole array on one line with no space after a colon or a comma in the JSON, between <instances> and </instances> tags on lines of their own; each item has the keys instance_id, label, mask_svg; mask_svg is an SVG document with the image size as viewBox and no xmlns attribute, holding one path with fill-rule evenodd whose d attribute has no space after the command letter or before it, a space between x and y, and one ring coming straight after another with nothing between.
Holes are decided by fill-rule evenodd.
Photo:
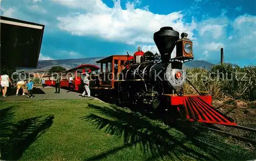
<instances>
[{"instance_id":1,"label":"black locomotive engine with smokestack and headlamp, without red cowcatcher","mask_svg":"<svg viewBox=\"0 0 256 161\"><path fill-rule=\"evenodd\" d=\"M154 33L154 41L159 55L140 48L134 54L133 61L127 62L119 74L120 102L135 101L152 104L157 108L160 96L177 94L182 96L182 87L186 80L183 63L194 59L192 41L186 33L181 34L172 27L163 27ZM176 46L176 57L171 53Z\"/></svg>"}]
</instances>

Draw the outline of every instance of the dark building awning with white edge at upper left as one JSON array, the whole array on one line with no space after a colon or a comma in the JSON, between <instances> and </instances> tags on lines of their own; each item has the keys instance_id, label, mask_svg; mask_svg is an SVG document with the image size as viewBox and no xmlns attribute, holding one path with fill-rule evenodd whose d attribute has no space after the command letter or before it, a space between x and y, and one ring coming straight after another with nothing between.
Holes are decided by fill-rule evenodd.
<instances>
[{"instance_id":1,"label":"dark building awning with white edge at upper left","mask_svg":"<svg viewBox=\"0 0 256 161\"><path fill-rule=\"evenodd\" d=\"M1 16L1 66L36 68L44 25Z\"/></svg>"}]
</instances>

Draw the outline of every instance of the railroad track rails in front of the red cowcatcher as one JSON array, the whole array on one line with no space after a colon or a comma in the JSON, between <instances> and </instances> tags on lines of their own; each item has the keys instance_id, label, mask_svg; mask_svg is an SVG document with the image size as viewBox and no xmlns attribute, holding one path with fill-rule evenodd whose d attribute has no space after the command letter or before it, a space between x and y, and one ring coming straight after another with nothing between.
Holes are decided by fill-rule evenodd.
<instances>
[{"instance_id":1,"label":"railroad track rails in front of the red cowcatcher","mask_svg":"<svg viewBox=\"0 0 256 161\"><path fill-rule=\"evenodd\" d=\"M221 125L221 126L225 126L225 125ZM218 128L216 126L214 126L214 127ZM256 134L256 129L253 129L253 128L239 126L239 125L238 126L228 126L228 127L242 129L242 130L250 131L250 132L255 132L255 134ZM218 133L221 133L221 134L224 134L224 135L227 135L227 136L232 136L233 138L236 138L238 140L241 140L241 141L244 141L244 142L248 142L248 143L250 143L252 145L256 145L256 140L252 140L252 139L249 139L249 138L246 138L246 137L243 137L243 136L234 135L232 133L225 132L224 130L219 130L219 129L211 128L211 127L208 127L208 126L203 126L203 128L207 128L207 129L209 129L211 131L216 131Z\"/></svg>"}]
</instances>

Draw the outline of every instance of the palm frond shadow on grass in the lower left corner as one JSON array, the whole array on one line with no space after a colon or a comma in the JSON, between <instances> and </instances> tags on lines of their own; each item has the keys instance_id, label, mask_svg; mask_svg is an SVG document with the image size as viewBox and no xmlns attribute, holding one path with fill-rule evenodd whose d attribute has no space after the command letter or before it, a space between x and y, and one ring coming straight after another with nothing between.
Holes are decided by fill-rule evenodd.
<instances>
[{"instance_id":1,"label":"palm frond shadow on grass in the lower left corner","mask_svg":"<svg viewBox=\"0 0 256 161\"><path fill-rule=\"evenodd\" d=\"M14 107L2 109L1 113L1 159L17 160L36 139L52 125L54 117L40 116L13 122Z\"/></svg>"}]
</instances>

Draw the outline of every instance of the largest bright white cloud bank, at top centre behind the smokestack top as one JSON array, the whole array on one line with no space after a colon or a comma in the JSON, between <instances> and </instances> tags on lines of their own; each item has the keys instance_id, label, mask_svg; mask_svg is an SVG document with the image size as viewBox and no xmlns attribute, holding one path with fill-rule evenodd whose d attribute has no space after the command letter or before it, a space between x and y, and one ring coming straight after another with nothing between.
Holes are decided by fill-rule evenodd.
<instances>
[{"instance_id":1,"label":"largest bright white cloud bank, at top centre behind the smokestack top","mask_svg":"<svg viewBox=\"0 0 256 161\"><path fill-rule=\"evenodd\" d=\"M148 10L134 9L127 3L123 10L120 1L109 8L101 1L55 1L71 8L83 9L82 13L58 17L59 29L79 36L95 36L103 39L135 44L136 42L154 43L153 34L163 26L188 33L193 39L196 24L186 24L183 14L173 12L167 15L154 14Z\"/></svg>"}]
</instances>

